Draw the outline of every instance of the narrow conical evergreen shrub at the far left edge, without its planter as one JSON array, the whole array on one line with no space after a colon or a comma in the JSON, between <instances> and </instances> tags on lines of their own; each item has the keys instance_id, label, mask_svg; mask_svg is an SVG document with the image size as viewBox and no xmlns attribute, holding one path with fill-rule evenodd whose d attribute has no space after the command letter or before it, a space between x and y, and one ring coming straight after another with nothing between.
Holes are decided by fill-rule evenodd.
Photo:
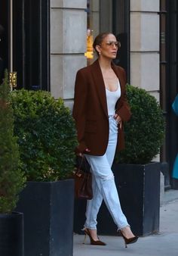
<instances>
[{"instance_id":1,"label":"narrow conical evergreen shrub at the far left edge, without its planter","mask_svg":"<svg viewBox=\"0 0 178 256\"><path fill-rule=\"evenodd\" d=\"M14 136L10 93L6 70L5 79L0 86L0 214L14 211L18 195L26 183L25 173L20 164L17 137Z\"/></svg>"}]
</instances>

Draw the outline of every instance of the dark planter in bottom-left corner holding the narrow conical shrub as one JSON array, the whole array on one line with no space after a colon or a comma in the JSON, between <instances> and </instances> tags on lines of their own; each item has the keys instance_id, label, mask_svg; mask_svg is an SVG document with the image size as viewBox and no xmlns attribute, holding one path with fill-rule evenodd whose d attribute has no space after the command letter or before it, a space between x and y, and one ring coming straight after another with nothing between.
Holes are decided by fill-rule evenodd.
<instances>
[{"instance_id":1,"label":"dark planter in bottom-left corner holding the narrow conical shrub","mask_svg":"<svg viewBox=\"0 0 178 256\"><path fill-rule=\"evenodd\" d=\"M23 214L0 214L0 255L24 255Z\"/></svg>"}]
</instances>

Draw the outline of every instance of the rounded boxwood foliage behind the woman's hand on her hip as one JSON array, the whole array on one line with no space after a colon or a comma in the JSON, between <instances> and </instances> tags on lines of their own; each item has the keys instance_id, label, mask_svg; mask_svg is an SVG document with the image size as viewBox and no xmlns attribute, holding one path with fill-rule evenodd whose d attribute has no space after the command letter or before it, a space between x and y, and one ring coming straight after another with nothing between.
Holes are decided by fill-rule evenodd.
<instances>
[{"instance_id":1,"label":"rounded boxwood foliage behind the woman's hand on her hip","mask_svg":"<svg viewBox=\"0 0 178 256\"><path fill-rule=\"evenodd\" d=\"M127 85L127 100L132 116L124 124L125 149L116 161L146 164L160 151L164 139L164 117L155 97L144 89Z\"/></svg>"}]
</instances>

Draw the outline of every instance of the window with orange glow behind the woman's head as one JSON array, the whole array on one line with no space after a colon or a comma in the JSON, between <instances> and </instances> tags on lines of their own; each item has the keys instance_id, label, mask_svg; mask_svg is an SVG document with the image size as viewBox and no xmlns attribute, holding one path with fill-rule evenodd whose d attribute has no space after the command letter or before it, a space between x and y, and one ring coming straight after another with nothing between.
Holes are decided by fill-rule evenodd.
<instances>
[{"instance_id":1,"label":"window with orange glow behind the woman's head","mask_svg":"<svg viewBox=\"0 0 178 256\"><path fill-rule=\"evenodd\" d=\"M94 61L93 42L95 36L112 32L121 42L115 64L121 65L130 75L130 1L87 0L87 64Z\"/></svg>"}]
</instances>

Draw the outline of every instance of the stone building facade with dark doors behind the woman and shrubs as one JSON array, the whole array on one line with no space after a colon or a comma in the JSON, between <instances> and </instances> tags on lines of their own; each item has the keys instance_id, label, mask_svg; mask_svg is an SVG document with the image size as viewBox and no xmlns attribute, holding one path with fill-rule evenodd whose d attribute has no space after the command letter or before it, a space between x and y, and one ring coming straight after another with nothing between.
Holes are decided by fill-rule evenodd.
<instances>
[{"instance_id":1,"label":"stone building facade with dark doors behind the woman and shrubs","mask_svg":"<svg viewBox=\"0 0 178 256\"><path fill-rule=\"evenodd\" d=\"M111 31L121 41L115 60L128 83L160 101L167 123L160 159L165 187L178 151L178 120L171 110L177 85L176 0L0 0L4 27L0 57L17 89L44 89L72 108L76 71L94 61L92 42ZM159 157L158 157L159 158Z\"/></svg>"}]
</instances>

